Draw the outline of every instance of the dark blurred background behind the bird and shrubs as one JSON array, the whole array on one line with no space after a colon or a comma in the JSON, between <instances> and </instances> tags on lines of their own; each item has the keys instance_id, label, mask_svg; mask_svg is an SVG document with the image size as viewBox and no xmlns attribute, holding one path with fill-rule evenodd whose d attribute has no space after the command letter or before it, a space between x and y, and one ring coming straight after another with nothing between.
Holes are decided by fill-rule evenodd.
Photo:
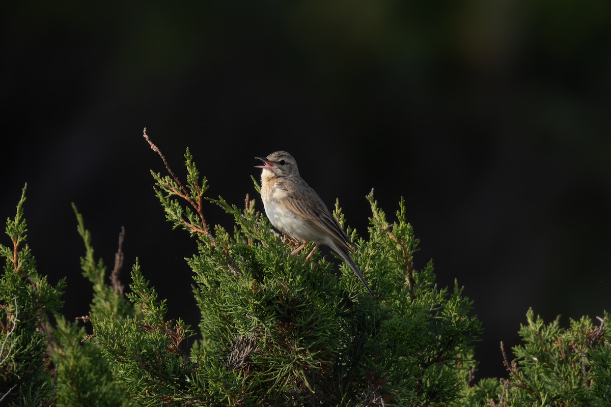
<instances>
[{"instance_id":1,"label":"dark blurred background behind the bird and shrubs","mask_svg":"<svg viewBox=\"0 0 611 407\"><path fill-rule=\"evenodd\" d=\"M112 268L125 226L124 273L137 256L197 325L195 244L153 195L144 127L232 203L278 149L361 234L372 187L391 217L405 196L416 267L432 258L475 301L478 377L506 376L499 342L518 344L529 307L563 325L611 310L611 2L87 3L0 17L0 215L27 182L28 242L40 273L67 276L68 318L92 295L74 202L97 257Z\"/></svg>"}]
</instances>

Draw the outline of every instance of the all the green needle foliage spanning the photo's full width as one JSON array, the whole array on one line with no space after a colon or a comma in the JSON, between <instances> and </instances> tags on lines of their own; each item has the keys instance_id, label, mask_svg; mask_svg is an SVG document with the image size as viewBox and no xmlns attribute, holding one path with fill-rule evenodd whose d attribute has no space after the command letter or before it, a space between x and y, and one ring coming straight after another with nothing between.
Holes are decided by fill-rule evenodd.
<instances>
[{"instance_id":1,"label":"all the green needle foliage spanning the photo's full width","mask_svg":"<svg viewBox=\"0 0 611 407\"><path fill-rule=\"evenodd\" d=\"M148 138L147 138L148 141ZM149 142L150 143L150 142ZM109 275L85 245L83 275L93 287L86 326L56 315L65 283L50 286L24 245L22 196L7 222L12 247L0 280L0 397L24 406L608 406L611 345L604 322L545 325L533 312L513 348L499 355L508 378L472 383L481 324L463 289L438 287L433 263L414 267L419 240L406 201L392 219L373 192L365 235L334 216L356 244L365 291L339 258L290 253L297 242L275 231L246 196L243 206L205 195L189 151L183 184L152 173L167 220L188 232L197 251L186 259L200 313L199 332L168 320L167 304L131 270L120 283L122 234ZM257 181L255 190L259 190ZM233 218L210 225L207 208ZM54 327L49 315L56 315ZM89 333L88 333L89 332ZM185 339L191 338L191 347Z\"/></svg>"}]
</instances>

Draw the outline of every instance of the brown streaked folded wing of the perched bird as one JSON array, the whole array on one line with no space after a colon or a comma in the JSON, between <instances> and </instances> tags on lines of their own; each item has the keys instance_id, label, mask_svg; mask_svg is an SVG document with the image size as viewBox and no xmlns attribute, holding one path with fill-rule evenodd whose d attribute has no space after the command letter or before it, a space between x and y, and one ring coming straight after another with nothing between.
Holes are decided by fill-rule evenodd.
<instances>
[{"instance_id":1,"label":"brown streaked folded wing of the perched bird","mask_svg":"<svg viewBox=\"0 0 611 407\"><path fill-rule=\"evenodd\" d=\"M306 220L316 229L327 234L345 250L352 251L352 242L346 232L340 227L331 212L320 199L320 196L302 179L296 182L287 182L284 187L287 195L282 198L283 203L298 217ZM297 191L299 190L299 193Z\"/></svg>"}]
</instances>

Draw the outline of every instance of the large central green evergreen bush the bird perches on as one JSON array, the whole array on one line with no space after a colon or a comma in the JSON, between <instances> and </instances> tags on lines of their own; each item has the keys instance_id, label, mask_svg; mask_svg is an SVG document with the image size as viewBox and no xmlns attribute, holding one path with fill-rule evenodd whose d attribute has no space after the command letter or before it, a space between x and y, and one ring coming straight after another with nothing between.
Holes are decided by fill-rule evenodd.
<instances>
[{"instance_id":1,"label":"large central green evergreen bush the bird perches on","mask_svg":"<svg viewBox=\"0 0 611 407\"><path fill-rule=\"evenodd\" d=\"M240 208L205 198L189 151L188 183L153 173L156 195L175 228L199 250L188 260L200 308L202 341L191 353L189 394L226 405L449 405L474 369L481 332L462 290L439 289L433 264L415 270L418 240L401 200L390 223L373 195L368 239L353 229L355 261L376 298L345 264L340 275L320 252L290 256L279 236L246 198ZM255 182L255 189L258 185ZM205 203L233 216L235 229L213 229ZM184 206L183 206L184 205ZM344 223L339 207L335 215ZM307 253L307 251L304 251Z\"/></svg>"}]
</instances>

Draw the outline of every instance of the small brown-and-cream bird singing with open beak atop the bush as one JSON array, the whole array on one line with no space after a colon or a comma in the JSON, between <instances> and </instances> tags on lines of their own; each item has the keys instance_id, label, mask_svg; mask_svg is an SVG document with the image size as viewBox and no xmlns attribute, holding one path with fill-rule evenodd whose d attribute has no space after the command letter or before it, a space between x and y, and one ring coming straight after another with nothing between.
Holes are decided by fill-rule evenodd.
<instances>
[{"instance_id":1,"label":"small brown-and-cream bird singing with open beak atop the bush","mask_svg":"<svg viewBox=\"0 0 611 407\"><path fill-rule=\"evenodd\" d=\"M286 151L276 151L255 159L263 161L263 165L255 165L255 168L262 168L261 198L265 214L274 228L302 242L291 256L313 242L315 246L305 258L309 261L320 245L326 245L349 265L373 297L350 255L354 252L354 243L332 217L318 193L301 178L293 156Z\"/></svg>"}]
</instances>

